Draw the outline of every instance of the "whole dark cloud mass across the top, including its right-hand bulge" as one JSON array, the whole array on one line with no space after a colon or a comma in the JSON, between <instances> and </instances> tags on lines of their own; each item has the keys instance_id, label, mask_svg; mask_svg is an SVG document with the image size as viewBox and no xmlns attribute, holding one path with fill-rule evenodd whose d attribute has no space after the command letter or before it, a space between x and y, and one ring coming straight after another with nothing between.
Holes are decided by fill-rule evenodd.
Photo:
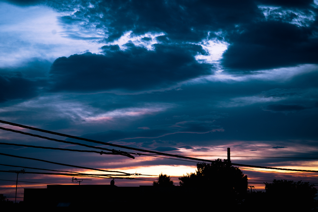
<instances>
[{"instance_id":1,"label":"whole dark cloud mass across the top, including its right-hand bulge","mask_svg":"<svg viewBox=\"0 0 318 212\"><path fill-rule=\"evenodd\" d=\"M157 37L160 42L167 42L167 39L176 43L200 42L211 32L210 38L224 37L231 44L222 60L222 65L228 70L250 71L318 62L318 53L315 51L318 48L317 21L301 20L302 16L315 14L312 1L78 3L83 7L76 6L78 11L62 17L62 22L66 25L86 23L83 27L87 29L93 23L96 29L107 29L106 41L114 41L125 32L132 31L133 35L163 32L164 36ZM258 5L279 8L265 17ZM61 11L74 9L68 1L64 2L64 6L60 3L53 3L52 6ZM291 24L294 19L304 25L310 22L312 26Z\"/></svg>"}]
</instances>

